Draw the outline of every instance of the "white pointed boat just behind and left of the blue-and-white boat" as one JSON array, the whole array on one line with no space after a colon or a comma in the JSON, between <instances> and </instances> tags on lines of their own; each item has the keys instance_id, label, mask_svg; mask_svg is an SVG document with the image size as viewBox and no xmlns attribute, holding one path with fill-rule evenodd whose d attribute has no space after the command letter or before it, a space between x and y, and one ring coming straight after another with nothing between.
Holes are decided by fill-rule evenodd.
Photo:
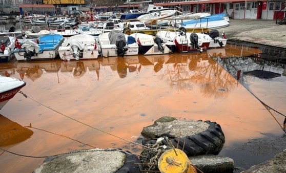
<instances>
[{"instance_id":1,"label":"white pointed boat just behind and left of the blue-and-white boat","mask_svg":"<svg viewBox=\"0 0 286 173\"><path fill-rule=\"evenodd\" d=\"M140 15L137 17L139 21L144 22L146 25L154 25L157 23L157 20L170 17L175 15L177 10L162 10L162 11L155 11L147 14ZM162 25L162 24L160 24Z\"/></svg>"}]
</instances>

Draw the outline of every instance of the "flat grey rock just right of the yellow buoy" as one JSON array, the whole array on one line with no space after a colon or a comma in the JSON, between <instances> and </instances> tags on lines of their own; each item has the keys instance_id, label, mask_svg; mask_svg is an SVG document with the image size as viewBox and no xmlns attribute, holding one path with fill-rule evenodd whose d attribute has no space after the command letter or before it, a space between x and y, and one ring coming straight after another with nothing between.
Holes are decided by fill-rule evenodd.
<instances>
[{"instance_id":1,"label":"flat grey rock just right of the yellow buoy","mask_svg":"<svg viewBox=\"0 0 286 173\"><path fill-rule=\"evenodd\" d=\"M201 155L189 157L191 163L204 173L233 172L234 161L231 158L215 155ZM198 171L199 172L199 171Z\"/></svg>"}]
</instances>

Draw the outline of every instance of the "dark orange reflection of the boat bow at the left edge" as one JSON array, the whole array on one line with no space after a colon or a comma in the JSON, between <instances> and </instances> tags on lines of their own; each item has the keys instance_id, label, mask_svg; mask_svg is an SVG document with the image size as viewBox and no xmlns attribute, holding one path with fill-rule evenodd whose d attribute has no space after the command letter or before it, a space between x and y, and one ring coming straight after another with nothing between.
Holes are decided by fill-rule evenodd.
<instances>
[{"instance_id":1,"label":"dark orange reflection of the boat bow at the left edge","mask_svg":"<svg viewBox=\"0 0 286 173\"><path fill-rule=\"evenodd\" d=\"M29 139L33 131L0 115L0 147L14 145Z\"/></svg>"}]
</instances>

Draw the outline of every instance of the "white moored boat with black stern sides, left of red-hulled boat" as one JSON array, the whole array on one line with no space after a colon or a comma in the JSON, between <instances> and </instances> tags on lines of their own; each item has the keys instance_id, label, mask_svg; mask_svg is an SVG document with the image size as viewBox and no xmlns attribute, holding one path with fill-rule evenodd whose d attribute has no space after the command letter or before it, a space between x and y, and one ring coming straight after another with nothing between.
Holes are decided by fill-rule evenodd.
<instances>
[{"instance_id":1,"label":"white moored boat with black stern sides, left of red-hulled boat","mask_svg":"<svg viewBox=\"0 0 286 173\"><path fill-rule=\"evenodd\" d=\"M172 41L165 41L153 35L133 33L139 46L139 53L143 55L171 54L175 51L175 44Z\"/></svg>"}]
</instances>

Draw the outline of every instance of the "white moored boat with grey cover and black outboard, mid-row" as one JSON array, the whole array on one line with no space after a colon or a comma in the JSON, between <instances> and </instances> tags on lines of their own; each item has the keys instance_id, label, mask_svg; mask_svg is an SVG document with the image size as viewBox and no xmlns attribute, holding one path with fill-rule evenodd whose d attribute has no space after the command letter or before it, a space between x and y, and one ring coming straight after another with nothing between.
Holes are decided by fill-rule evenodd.
<instances>
[{"instance_id":1,"label":"white moored boat with grey cover and black outboard, mid-row","mask_svg":"<svg viewBox=\"0 0 286 173\"><path fill-rule=\"evenodd\" d=\"M106 32L102 33L98 36L97 40L100 45L101 49L101 56L103 57L110 57L110 56L118 56L117 54L117 46L116 44L116 37L117 33L122 32L122 31L111 31L111 32ZM126 52L124 55L138 55L138 45L136 40L132 36L129 36L127 34L125 35L125 40L127 40L127 45L126 45Z\"/></svg>"}]
</instances>

